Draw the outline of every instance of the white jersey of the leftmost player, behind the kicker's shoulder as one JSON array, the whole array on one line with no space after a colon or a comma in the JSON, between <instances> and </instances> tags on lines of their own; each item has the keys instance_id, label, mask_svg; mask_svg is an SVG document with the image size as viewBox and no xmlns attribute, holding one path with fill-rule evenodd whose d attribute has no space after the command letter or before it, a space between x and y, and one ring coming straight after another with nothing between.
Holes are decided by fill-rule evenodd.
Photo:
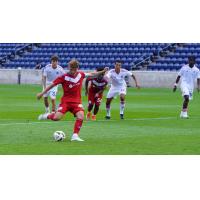
<instances>
[{"instance_id":1,"label":"white jersey of the leftmost player, behind the kicker's shoulder","mask_svg":"<svg viewBox=\"0 0 200 200\"><path fill-rule=\"evenodd\" d=\"M57 68L54 69L51 64L48 64L45 66L42 74L46 77L46 84L50 85L57 77L65 74L65 71L60 65L57 65Z\"/></svg>"}]
</instances>

